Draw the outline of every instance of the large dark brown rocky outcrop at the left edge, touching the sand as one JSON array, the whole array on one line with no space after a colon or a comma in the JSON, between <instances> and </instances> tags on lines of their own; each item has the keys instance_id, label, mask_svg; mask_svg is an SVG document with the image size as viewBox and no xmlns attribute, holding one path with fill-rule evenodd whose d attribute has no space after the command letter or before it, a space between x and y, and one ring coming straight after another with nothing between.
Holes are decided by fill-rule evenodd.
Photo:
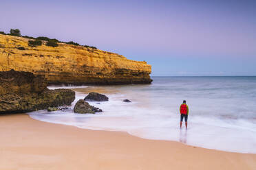
<instances>
[{"instance_id":1,"label":"large dark brown rocky outcrop at the left edge, touching the sand","mask_svg":"<svg viewBox=\"0 0 256 170\"><path fill-rule=\"evenodd\" d=\"M30 112L71 105L74 99L73 90L47 89L43 75L0 71L0 113Z\"/></svg>"}]
</instances>

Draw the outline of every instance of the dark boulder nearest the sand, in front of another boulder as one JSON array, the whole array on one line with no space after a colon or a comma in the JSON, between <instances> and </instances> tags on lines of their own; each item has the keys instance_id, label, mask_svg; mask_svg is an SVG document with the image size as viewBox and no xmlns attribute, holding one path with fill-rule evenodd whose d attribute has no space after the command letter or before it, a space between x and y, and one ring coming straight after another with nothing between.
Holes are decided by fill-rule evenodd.
<instances>
[{"instance_id":1,"label":"dark boulder nearest the sand, in front of another boulder","mask_svg":"<svg viewBox=\"0 0 256 170\"><path fill-rule=\"evenodd\" d=\"M85 100L80 99L76 102L76 105L74 106L74 112L94 114L95 112L103 112L103 110L94 106L90 106Z\"/></svg>"}]
</instances>

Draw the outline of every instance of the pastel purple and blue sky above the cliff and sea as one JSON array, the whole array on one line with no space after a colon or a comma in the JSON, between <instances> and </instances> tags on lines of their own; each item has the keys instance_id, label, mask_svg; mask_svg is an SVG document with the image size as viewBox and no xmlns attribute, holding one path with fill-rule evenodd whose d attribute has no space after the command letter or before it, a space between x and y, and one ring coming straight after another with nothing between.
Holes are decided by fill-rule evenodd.
<instances>
[{"instance_id":1,"label":"pastel purple and blue sky above the cliff and sea","mask_svg":"<svg viewBox=\"0 0 256 170\"><path fill-rule=\"evenodd\" d=\"M0 31L76 41L151 75L256 75L256 1L1 0Z\"/></svg>"}]
</instances>

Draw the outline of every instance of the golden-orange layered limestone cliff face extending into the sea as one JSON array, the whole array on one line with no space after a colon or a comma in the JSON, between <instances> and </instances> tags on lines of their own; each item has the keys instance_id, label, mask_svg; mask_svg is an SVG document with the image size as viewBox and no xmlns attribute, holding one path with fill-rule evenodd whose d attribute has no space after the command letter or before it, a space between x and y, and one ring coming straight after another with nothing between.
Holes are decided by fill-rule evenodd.
<instances>
[{"instance_id":1,"label":"golden-orange layered limestone cliff face extending into the sea","mask_svg":"<svg viewBox=\"0 0 256 170\"><path fill-rule=\"evenodd\" d=\"M28 46L28 38L0 34L0 71L45 75L50 84L149 84L151 65L117 53L58 43ZM25 50L19 50L24 47Z\"/></svg>"}]
</instances>

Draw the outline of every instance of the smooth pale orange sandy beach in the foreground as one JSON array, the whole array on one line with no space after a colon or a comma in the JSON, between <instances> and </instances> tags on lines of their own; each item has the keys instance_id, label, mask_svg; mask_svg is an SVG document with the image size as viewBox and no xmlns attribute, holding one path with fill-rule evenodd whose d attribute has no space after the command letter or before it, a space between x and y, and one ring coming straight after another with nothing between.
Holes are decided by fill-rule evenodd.
<instances>
[{"instance_id":1,"label":"smooth pale orange sandy beach in the foreground","mask_svg":"<svg viewBox=\"0 0 256 170\"><path fill-rule=\"evenodd\" d=\"M256 169L256 154L0 117L0 169Z\"/></svg>"}]
</instances>

